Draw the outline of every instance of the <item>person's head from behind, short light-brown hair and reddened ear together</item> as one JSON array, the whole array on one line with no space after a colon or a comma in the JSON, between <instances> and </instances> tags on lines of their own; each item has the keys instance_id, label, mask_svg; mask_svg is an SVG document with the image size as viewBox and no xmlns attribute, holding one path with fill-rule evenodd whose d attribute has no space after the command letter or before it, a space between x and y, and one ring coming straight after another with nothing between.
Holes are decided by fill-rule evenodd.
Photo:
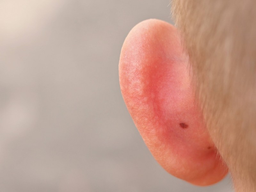
<instances>
[{"instance_id":1,"label":"person's head from behind, short light-brown hair and reddened ear together","mask_svg":"<svg viewBox=\"0 0 256 192\"><path fill-rule=\"evenodd\" d=\"M256 190L256 3L172 1L176 28L136 25L119 63L127 108L172 175L210 185L229 171Z\"/></svg>"}]
</instances>

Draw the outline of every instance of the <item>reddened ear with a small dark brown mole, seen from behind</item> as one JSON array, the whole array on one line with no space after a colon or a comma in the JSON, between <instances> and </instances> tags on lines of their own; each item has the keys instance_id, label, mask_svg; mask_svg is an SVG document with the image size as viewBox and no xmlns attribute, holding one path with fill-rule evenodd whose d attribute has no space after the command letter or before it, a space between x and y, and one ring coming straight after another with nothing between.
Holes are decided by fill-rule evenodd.
<instances>
[{"instance_id":1,"label":"reddened ear with a small dark brown mole, seen from behind","mask_svg":"<svg viewBox=\"0 0 256 192\"><path fill-rule=\"evenodd\" d=\"M126 106L152 155L172 175L210 185L227 174L194 97L188 56L171 25L146 20L124 41L119 62Z\"/></svg>"}]
</instances>

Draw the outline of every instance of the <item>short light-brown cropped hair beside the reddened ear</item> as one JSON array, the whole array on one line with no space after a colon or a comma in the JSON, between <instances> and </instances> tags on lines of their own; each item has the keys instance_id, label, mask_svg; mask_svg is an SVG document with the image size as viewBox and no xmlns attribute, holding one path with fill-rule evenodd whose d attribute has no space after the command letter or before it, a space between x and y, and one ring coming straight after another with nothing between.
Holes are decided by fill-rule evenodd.
<instances>
[{"instance_id":1,"label":"short light-brown cropped hair beside the reddened ear","mask_svg":"<svg viewBox=\"0 0 256 192\"><path fill-rule=\"evenodd\" d=\"M235 188L256 188L256 1L172 0L196 96Z\"/></svg>"}]
</instances>

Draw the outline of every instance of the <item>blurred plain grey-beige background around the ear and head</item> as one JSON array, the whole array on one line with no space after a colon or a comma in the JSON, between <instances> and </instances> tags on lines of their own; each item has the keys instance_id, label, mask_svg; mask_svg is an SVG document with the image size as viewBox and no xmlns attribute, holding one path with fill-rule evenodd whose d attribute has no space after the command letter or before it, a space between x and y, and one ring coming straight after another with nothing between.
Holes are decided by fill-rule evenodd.
<instances>
[{"instance_id":1,"label":"blurred plain grey-beige background around the ear and head","mask_svg":"<svg viewBox=\"0 0 256 192\"><path fill-rule=\"evenodd\" d=\"M169 0L1 0L0 191L232 192L156 163L124 105L118 61L138 22Z\"/></svg>"}]
</instances>

